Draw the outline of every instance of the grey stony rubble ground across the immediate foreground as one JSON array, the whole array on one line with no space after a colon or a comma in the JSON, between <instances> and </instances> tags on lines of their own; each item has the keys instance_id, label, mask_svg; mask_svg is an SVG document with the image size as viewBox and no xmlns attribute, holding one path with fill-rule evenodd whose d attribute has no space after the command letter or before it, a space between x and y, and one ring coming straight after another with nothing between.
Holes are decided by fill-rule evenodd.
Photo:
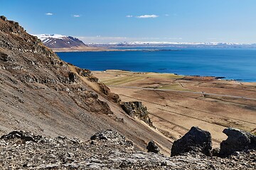
<instances>
[{"instance_id":1,"label":"grey stony rubble ground across the immediate foreground","mask_svg":"<svg viewBox=\"0 0 256 170\"><path fill-rule=\"evenodd\" d=\"M195 135L198 128L188 135ZM202 135L202 134L201 134ZM187 141L189 142L189 141ZM194 145L195 146L195 145ZM123 135L105 130L85 142L11 132L0 140L1 169L255 169L256 150L234 152L228 157L207 157L188 150L176 157L141 152Z\"/></svg>"}]
</instances>

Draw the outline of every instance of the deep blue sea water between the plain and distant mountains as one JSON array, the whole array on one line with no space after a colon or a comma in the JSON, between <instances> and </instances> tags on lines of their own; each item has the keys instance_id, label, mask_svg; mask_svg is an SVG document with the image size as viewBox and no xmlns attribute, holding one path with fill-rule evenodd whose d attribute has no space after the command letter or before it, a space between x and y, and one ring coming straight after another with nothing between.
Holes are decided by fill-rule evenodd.
<instances>
[{"instance_id":1,"label":"deep blue sea water between the plain and distant mountains","mask_svg":"<svg viewBox=\"0 0 256 170\"><path fill-rule=\"evenodd\" d=\"M58 52L65 62L92 71L122 69L256 81L256 50Z\"/></svg>"}]
</instances>

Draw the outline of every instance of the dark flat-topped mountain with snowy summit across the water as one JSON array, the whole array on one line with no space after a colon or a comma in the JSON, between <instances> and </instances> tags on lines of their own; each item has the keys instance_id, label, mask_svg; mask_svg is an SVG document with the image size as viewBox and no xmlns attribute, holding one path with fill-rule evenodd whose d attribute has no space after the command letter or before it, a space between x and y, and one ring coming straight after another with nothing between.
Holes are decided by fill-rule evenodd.
<instances>
[{"instance_id":1,"label":"dark flat-topped mountain with snowy summit across the water","mask_svg":"<svg viewBox=\"0 0 256 170\"><path fill-rule=\"evenodd\" d=\"M72 47L85 47L84 42L78 38L59 34L39 34L37 36L46 47L50 48L72 48Z\"/></svg>"}]
</instances>

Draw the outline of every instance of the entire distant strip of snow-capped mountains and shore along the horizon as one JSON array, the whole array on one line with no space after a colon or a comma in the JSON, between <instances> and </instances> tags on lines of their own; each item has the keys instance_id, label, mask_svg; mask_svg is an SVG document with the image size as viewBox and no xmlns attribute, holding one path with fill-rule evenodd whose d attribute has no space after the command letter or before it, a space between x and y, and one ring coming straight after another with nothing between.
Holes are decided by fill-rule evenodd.
<instances>
[{"instance_id":1,"label":"entire distant strip of snow-capped mountains and shore along the horizon","mask_svg":"<svg viewBox=\"0 0 256 170\"><path fill-rule=\"evenodd\" d=\"M68 35L39 34L35 35L46 47L54 51L94 51L107 50L106 47L171 47L171 48L256 48L256 44L234 42L110 42L110 43L87 43ZM99 48L103 47L103 48ZM65 51L64 50L64 51Z\"/></svg>"}]
</instances>

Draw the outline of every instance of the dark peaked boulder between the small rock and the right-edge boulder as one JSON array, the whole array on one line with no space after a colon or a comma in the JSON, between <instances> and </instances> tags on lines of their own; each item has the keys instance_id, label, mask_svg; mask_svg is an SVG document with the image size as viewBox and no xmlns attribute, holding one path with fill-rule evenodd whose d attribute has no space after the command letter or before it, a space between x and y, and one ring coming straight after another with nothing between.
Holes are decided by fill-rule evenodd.
<instances>
[{"instance_id":1,"label":"dark peaked boulder between the small rock and the right-edge boulder","mask_svg":"<svg viewBox=\"0 0 256 170\"><path fill-rule=\"evenodd\" d=\"M210 132L192 127L181 139L174 141L171 147L171 157L186 152L201 152L211 155L212 142Z\"/></svg>"}]
</instances>

